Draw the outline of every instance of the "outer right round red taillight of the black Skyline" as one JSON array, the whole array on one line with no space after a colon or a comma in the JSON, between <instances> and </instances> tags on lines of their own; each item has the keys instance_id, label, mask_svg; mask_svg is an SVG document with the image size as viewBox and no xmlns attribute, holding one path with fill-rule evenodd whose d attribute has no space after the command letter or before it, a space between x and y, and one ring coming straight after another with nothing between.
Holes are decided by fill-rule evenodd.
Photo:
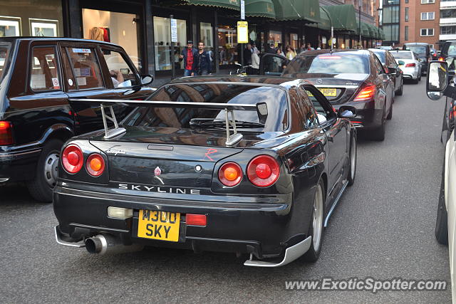
<instances>
[{"instance_id":1,"label":"outer right round red taillight of the black Skyline","mask_svg":"<svg viewBox=\"0 0 456 304\"><path fill-rule=\"evenodd\" d=\"M257 187L269 187L279 178L280 167L274 157L259 155L247 166L247 177Z\"/></svg>"}]
</instances>

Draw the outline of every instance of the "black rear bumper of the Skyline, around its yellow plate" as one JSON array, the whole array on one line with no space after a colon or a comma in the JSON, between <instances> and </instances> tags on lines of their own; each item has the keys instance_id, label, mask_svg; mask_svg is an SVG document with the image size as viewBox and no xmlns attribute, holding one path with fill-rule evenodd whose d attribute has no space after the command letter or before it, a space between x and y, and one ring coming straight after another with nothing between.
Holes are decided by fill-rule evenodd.
<instances>
[{"instance_id":1,"label":"black rear bumper of the Skyline, around its yellow plate","mask_svg":"<svg viewBox=\"0 0 456 304\"><path fill-rule=\"evenodd\" d=\"M244 204L192 201L191 204L173 200L167 204L152 197L105 194L58 185L54 189L54 212L58 231L69 243L100 233L118 236L125 244L184 248L193 251L223 251L252 253L257 258L283 255L284 249L306 239L301 229L291 223L291 194L281 194L277 203ZM133 209L133 218L108 217L108 206ZM139 210L179 212L178 242L139 238ZM205 214L206 226L190 226L185 214ZM301 224L309 226L310 216ZM296 230L296 231L293 231ZM299 230L299 231L298 231ZM304 230L304 229L303 229Z\"/></svg>"}]
</instances>

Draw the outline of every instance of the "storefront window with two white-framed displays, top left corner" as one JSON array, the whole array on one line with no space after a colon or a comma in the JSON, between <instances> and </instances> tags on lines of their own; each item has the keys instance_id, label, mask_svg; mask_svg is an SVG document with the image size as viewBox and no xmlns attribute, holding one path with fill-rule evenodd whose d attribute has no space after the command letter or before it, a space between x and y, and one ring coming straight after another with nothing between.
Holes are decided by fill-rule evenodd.
<instances>
[{"instance_id":1,"label":"storefront window with two white-framed displays, top left corner","mask_svg":"<svg viewBox=\"0 0 456 304\"><path fill-rule=\"evenodd\" d=\"M61 0L0 0L0 37L63 36Z\"/></svg>"}]
</instances>

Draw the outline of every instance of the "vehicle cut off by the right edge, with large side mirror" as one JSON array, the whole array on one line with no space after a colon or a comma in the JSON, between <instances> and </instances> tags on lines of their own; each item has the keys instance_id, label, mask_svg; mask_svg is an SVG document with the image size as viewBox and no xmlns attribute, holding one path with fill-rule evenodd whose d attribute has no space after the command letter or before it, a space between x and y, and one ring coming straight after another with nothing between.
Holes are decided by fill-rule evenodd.
<instances>
[{"instance_id":1,"label":"vehicle cut off by the right edge, with large side mirror","mask_svg":"<svg viewBox=\"0 0 456 304\"><path fill-rule=\"evenodd\" d=\"M449 59L449 58L447 58ZM450 99L450 103L455 105L456 88L455 83L448 81L447 61L432 61L427 73L427 96L432 100L439 100L442 96ZM450 112L451 125L455 125L455 110ZM447 109L445 109L445 113ZM444 117L444 124L447 117ZM456 133L452 128L447 130L445 143L445 162L442 165L442 179L440 183L440 195L437 205L437 219L435 221L435 238L439 243L448 246L450 255L450 274L452 290L455 290L455 246L456 246ZM453 303L456 302L456 293L452 292Z\"/></svg>"}]
</instances>

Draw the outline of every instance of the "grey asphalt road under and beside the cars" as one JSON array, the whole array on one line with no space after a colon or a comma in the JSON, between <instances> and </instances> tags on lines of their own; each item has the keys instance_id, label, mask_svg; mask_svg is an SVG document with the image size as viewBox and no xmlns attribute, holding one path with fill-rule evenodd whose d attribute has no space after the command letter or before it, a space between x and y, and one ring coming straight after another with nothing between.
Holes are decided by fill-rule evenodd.
<instances>
[{"instance_id":1,"label":"grey asphalt road under and beside the cars","mask_svg":"<svg viewBox=\"0 0 456 304\"><path fill-rule=\"evenodd\" d=\"M154 249L93 256L58 245L51 204L0 188L1 303L306 302L448 303L445 291L290 291L285 281L333 277L450 281L434 227L443 102L425 78L397 97L384 142L359 140L356 182L326 229L318 262L247 268L227 253Z\"/></svg>"}]
</instances>

